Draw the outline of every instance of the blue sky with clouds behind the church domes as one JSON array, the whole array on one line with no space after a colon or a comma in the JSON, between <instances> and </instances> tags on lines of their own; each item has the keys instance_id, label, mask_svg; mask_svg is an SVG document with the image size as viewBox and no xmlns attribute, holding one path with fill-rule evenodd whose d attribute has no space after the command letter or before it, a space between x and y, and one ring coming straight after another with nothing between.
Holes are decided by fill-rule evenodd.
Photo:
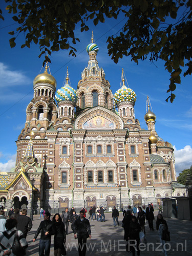
<instances>
[{"instance_id":1,"label":"blue sky with clouds behind the church domes","mask_svg":"<svg viewBox=\"0 0 192 256\"><path fill-rule=\"evenodd\" d=\"M39 47L21 49L25 38L20 35L16 39L16 47L11 49L9 31L16 25L5 11L5 4L1 8L5 21L0 22L0 170L5 172L15 165L16 143L20 131L26 121L26 108L33 98L33 79L42 73L43 58L38 58ZM77 89L81 79L81 71L87 67L89 55L86 47L90 43L93 30L95 42L99 47L97 55L98 65L105 72L105 78L111 84L113 94L120 87L121 69L124 69L129 87L137 94L135 103L135 117L139 119L141 127L147 129L144 115L146 113L146 96L150 97L153 112L156 114L156 131L158 135L173 144L175 148L177 174L192 165L192 89L191 76L181 76L181 84L177 85L174 103L167 103L166 93L169 84L169 73L162 61L155 65L148 60L140 61L138 65L130 57L123 57L117 64L108 56L106 39L115 34L123 26L121 20L108 20L95 27L89 23L90 30L80 33L79 26L75 36L80 43L75 47L77 57L69 57L69 51L60 50L52 53L50 64L51 74L57 80L57 89L62 87L67 67L71 86ZM11 25L11 26L10 26ZM7 27L8 26L8 27Z\"/></svg>"}]
</instances>

